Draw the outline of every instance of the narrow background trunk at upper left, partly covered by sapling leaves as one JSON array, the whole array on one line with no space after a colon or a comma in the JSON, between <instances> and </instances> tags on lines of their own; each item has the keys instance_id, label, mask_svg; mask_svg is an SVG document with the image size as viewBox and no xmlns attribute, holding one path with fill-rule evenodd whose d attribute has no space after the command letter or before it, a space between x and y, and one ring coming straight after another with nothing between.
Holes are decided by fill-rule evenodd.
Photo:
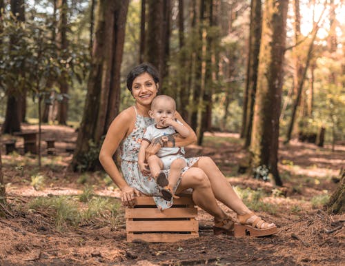
<instances>
[{"instance_id":1,"label":"narrow background trunk at upper left, partly covered by sapling leaves","mask_svg":"<svg viewBox=\"0 0 345 266\"><path fill-rule=\"evenodd\" d=\"M59 0L58 2L59 7L59 32L57 35L57 40L59 44L59 52L63 59L67 59L68 55L66 54L66 50L68 49L68 40L67 40L67 31L68 31L68 19L67 19L67 12L68 12L68 3L67 0ZM67 81L67 72L63 71L61 73L61 79L59 80L60 85L60 93L61 94L68 94L68 81ZM66 96L63 96L63 99L59 102L59 109L57 114L57 120L59 125L67 125L68 119L68 99Z\"/></svg>"}]
</instances>

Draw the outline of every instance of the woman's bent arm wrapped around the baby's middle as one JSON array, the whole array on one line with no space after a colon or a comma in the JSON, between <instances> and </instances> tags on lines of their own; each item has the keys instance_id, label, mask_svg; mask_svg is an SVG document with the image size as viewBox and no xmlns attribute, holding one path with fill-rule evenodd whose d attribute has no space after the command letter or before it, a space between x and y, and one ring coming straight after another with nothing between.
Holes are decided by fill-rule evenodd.
<instances>
[{"instance_id":1,"label":"woman's bent arm wrapped around the baby's middle","mask_svg":"<svg viewBox=\"0 0 345 266\"><path fill-rule=\"evenodd\" d=\"M197 141L197 135L192 130L192 127L182 119L178 112L176 112L176 118L188 128L190 134L186 138L183 138L180 134L172 134L165 135L163 138L159 137L157 139L153 139L152 143L146 149L146 159L151 155L156 154L161 147L184 147Z\"/></svg>"}]
</instances>

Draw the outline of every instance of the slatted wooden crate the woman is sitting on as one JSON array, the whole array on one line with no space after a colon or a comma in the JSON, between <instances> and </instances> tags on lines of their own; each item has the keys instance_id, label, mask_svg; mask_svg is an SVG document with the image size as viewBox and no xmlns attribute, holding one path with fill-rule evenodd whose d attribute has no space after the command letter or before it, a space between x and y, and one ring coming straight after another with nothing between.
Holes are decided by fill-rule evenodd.
<instances>
[{"instance_id":1,"label":"slatted wooden crate the woman is sitting on","mask_svg":"<svg viewBox=\"0 0 345 266\"><path fill-rule=\"evenodd\" d=\"M174 205L162 211L152 196L139 196L135 201L135 207L126 207L125 212L128 242L175 242L199 237L197 208L191 195L175 198Z\"/></svg>"}]
</instances>

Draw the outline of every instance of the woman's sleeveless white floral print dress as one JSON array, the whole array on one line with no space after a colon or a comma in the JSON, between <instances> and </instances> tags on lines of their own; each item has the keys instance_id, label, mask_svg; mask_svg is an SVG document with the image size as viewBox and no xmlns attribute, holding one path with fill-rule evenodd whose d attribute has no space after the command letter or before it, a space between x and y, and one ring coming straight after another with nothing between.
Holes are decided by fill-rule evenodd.
<instances>
[{"instance_id":1,"label":"woman's sleeveless white floral print dress","mask_svg":"<svg viewBox=\"0 0 345 266\"><path fill-rule=\"evenodd\" d=\"M135 106L133 106L135 108ZM140 192L146 195L152 195L157 207L159 209L168 209L172 206L172 201L166 201L161 197L161 192L159 186L155 182L155 178L152 176L144 176L139 171L138 166L138 154L141 145L141 140L146 131L148 125L152 125L155 121L150 117L141 116L137 113L135 108L136 121L133 131L121 142L120 145L120 157L121 157L121 171L124 178L130 187L135 187ZM194 165L199 157L186 158L187 166L181 171L181 176ZM164 170L168 175L169 170ZM174 187L174 192L176 191L179 183L181 182L181 177Z\"/></svg>"}]
</instances>

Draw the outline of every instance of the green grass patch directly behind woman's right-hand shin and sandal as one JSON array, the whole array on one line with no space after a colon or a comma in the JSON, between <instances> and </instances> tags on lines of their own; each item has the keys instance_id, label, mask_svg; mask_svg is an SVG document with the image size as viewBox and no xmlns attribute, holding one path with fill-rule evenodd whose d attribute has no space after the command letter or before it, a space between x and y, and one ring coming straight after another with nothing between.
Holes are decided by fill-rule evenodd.
<instances>
[{"instance_id":1,"label":"green grass patch directly behind woman's right-hand shin and sandal","mask_svg":"<svg viewBox=\"0 0 345 266\"><path fill-rule=\"evenodd\" d=\"M252 209L255 212L261 211L268 212L270 214L277 213L276 205L273 205L271 203L265 203L263 201L263 198L267 196L263 190L251 190L250 187L242 189L239 186L235 186L234 189L249 209Z\"/></svg>"}]
</instances>

